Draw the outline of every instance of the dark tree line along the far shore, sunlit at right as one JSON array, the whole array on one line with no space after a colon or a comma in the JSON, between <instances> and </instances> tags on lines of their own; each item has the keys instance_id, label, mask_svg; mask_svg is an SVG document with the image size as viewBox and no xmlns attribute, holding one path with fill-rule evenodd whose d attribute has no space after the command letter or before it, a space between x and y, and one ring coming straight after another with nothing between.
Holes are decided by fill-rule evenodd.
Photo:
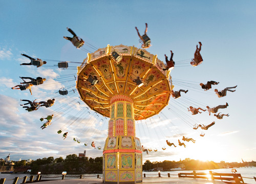
<instances>
[{"instance_id":1,"label":"dark tree line along the far shore, sunlit at right","mask_svg":"<svg viewBox=\"0 0 256 184\"><path fill-rule=\"evenodd\" d=\"M63 171L67 171L69 174L78 173L102 173L102 156L101 157L78 157L76 154L67 155L65 159L62 157L55 158L50 156L48 158L38 158L32 160L30 163L26 160L14 161L14 171L20 172L20 168L23 171L31 169L31 172L36 174L41 172L44 174L59 174ZM4 162L0 162L0 166L6 165ZM227 167L246 167L256 166L255 162L246 163L215 163L213 161L203 162L201 160L194 160L185 158L184 160L163 162L151 162L146 160L142 166L143 171L152 171L157 168L163 168L164 171L169 171L174 168L185 168L186 170L208 170L208 169L220 169Z\"/></svg>"}]
</instances>

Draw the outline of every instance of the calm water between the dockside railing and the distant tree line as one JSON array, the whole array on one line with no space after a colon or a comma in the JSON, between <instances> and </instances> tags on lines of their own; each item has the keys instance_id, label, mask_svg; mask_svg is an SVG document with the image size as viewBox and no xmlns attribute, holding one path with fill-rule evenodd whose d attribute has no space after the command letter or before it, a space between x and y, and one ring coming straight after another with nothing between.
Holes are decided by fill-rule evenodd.
<instances>
[{"instance_id":1,"label":"calm water between the dockside railing and the distant tree line","mask_svg":"<svg viewBox=\"0 0 256 184\"><path fill-rule=\"evenodd\" d=\"M252 183L255 184L255 180L254 179L248 179L248 178L244 178L244 177L249 177L249 178L253 178L256 177L256 167L251 167L251 168L236 168L236 170L238 171L237 173L240 173L244 179L245 183ZM205 173L209 173L209 171L212 172L217 172L217 173L231 173L231 169L212 169L212 170L200 170L200 172L205 172ZM165 171L165 172L160 172L162 177L168 177L167 174L170 173L170 177L171 178L177 178L178 177L178 173L184 173L184 172L193 172L193 171L189 171L189 170L183 170L183 171ZM199 172L199 170L198 170ZM142 172L143 174L146 174L146 177L158 177L158 172ZM102 174L99 174L100 177L102 176ZM23 177L24 176L28 176L27 181L29 180L30 174L0 174L0 178L6 178L5 184L12 184L13 179L15 177L19 177L19 180L17 183L22 183L23 181ZM41 174L42 179L61 179L61 174ZM74 174L74 175L66 175L65 179L78 179L79 178L79 174ZM97 178L97 174L83 174L83 178L84 176L94 176L94 177L90 177L90 178ZM50 177L57 177L57 178L50 178ZM86 178L86 177L85 177ZM102 177L101 177L102 178ZM34 175L34 179L36 179L36 175Z\"/></svg>"}]
</instances>

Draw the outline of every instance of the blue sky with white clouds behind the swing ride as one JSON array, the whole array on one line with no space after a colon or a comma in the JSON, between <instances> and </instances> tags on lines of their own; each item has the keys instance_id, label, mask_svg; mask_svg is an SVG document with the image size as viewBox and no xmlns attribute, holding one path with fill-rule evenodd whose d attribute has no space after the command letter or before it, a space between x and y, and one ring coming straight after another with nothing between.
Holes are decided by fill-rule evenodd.
<instances>
[{"instance_id":1,"label":"blue sky with white clouds behind the swing ride","mask_svg":"<svg viewBox=\"0 0 256 184\"><path fill-rule=\"evenodd\" d=\"M87 110L85 104L79 105L77 92L65 97L56 94L59 88L75 84L76 70L58 70L53 60L82 62L87 57L87 52L63 39L71 36L66 27L96 48L107 44L140 47L134 27L143 33L147 22L152 40L148 52L157 54L162 61L164 54L169 57L169 51L174 52L177 65L171 76L175 89L188 89L188 93L180 99L170 99L159 116L136 123L142 144L158 149L148 155L143 153L143 160L255 160L255 5L255 1L0 1L0 158L9 153L13 160L56 158L83 150L89 157L101 156L101 150L82 143L95 141L96 146L103 147L108 121ZM193 58L198 41L203 43L204 61L193 67L189 59ZM94 52L87 45L83 48ZM29 62L21 53L48 63L39 68L20 66ZM183 60L187 62L181 64ZM47 81L33 86L31 96L29 91L11 89L21 82L19 76L41 76ZM199 83L208 80L220 83L204 91ZM214 94L215 87L234 85L238 85L237 91L226 97ZM19 106L20 99L43 101L53 97L56 103L51 108L27 112ZM186 109L190 105L206 108L226 102L228 108L220 112L230 116L223 120L206 112L192 116ZM52 113L56 114L53 124L41 130L39 119ZM204 137L199 136L201 130L191 128L195 123L207 125L212 121L216 124L204 131ZM60 128L67 128L70 134L65 141L57 134ZM182 135L193 137L196 143L186 143L186 148L165 144L166 139L177 144ZM75 136L81 144L73 141Z\"/></svg>"}]
</instances>

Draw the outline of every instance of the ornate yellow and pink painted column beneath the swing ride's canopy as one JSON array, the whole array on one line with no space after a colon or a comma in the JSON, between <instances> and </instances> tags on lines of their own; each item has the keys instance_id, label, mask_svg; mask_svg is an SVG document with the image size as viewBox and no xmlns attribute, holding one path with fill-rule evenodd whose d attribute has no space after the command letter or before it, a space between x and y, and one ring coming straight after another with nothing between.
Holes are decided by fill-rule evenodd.
<instances>
[{"instance_id":1,"label":"ornate yellow and pink painted column beneath the swing ride's canopy","mask_svg":"<svg viewBox=\"0 0 256 184\"><path fill-rule=\"evenodd\" d=\"M115 95L110 104L109 131L103 149L103 182L142 182L142 148L135 137L133 100L126 95Z\"/></svg>"}]
</instances>

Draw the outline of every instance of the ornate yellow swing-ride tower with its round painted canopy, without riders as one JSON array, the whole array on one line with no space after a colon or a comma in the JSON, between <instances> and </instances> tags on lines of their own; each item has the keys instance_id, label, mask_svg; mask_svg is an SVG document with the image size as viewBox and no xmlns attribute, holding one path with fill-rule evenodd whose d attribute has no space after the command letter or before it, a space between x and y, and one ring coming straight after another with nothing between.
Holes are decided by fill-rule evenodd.
<instances>
[{"instance_id":1,"label":"ornate yellow swing-ride tower with its round painted canopy, without riders","mask_svg":"<svg viewBox=\"0 0 256 184\"><path fill-rule=\"evenodd\" d=\"M146 50L125 45L88 53L76 88L92 110L110 118L103 148L103 183L142 182L142 147L135 121L158 114L170 98L170 71Z\"/></svg>"}]
</instances>

